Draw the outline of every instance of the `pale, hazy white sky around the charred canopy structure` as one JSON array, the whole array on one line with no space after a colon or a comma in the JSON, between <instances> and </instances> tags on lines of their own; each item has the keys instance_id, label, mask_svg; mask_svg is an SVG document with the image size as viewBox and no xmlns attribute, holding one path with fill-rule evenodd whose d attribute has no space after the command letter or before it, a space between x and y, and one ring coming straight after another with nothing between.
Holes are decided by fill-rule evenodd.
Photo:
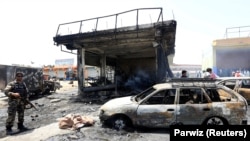
<instances>
[{"instance_id":1,"label":"pale, hazy white sky around the charred canopy structure","mask_svg":"<svg viewBox=\"0 0 250 141\"><path fill-rule=\"evenodd\" d=\"M0 64L54 64L75 58L54 45L60 23L162 7L177 21L176 64L200 64L203 49L223 39L226 28L250 26L248 0L1 0Z\"/></svg>"}]
</instances>

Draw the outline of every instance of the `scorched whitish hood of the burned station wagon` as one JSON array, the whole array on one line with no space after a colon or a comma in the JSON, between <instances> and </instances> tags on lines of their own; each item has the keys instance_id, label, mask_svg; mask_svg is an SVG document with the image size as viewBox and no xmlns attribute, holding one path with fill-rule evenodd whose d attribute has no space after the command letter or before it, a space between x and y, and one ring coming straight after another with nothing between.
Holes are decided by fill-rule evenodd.
<instances>
[{"instance_id":1,"label":"scorched whitish hood of the burned station wagon","mask_svg":"<svg viewBox=\"0 0 250 141\"><path fill-rule=\"evenodd\" d=\"M134 103L133 101L131 101L131 97L132 96L127 96L127 97L121 97L121 98L115 98L112 99L108 102L106 102L103 106L119 106L119 105L129 105Z\"/></svg>"}]
</instances>

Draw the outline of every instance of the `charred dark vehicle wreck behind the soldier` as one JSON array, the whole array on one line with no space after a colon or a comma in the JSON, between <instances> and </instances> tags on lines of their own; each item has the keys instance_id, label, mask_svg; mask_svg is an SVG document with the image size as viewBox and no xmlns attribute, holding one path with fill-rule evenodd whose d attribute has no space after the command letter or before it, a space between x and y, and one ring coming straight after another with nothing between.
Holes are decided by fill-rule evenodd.
<instances>
[{"instance_id":1,"label":"charred dark vehicle wreck behind the soldier","mask_svg":"<svg viewBox=\"0 0 250 141\"><path fill-rule=\"evenodd\" d=\"M42 68L0 65L1 90L3 90L10 81L15 79L16 72L22 72L24 74L23 81L26 83L31 96L55 92L62 87L60 82L51 80L50 76L44 75Z\"/></svg>"}]
</instances>

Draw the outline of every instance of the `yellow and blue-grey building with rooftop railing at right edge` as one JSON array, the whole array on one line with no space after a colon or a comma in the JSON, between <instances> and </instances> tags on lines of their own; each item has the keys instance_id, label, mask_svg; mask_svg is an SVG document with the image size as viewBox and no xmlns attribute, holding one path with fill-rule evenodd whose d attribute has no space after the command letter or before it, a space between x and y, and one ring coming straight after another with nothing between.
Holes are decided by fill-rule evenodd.
<instances>
[{"instance_id":1,"label":"yellow and blue-grey building with rooftop railing at right edge","mask_svg":"<svg viewBox=\"0 0 250 141\"><path fill-rule=\"evenodd\" d=\"M235 33L238 36L232 35ZM211 67L220 77L233 76L236 71L249 76L249 62L250 27L228 28L225 39L214 40L211 49L203 52L202 69Z\"/></svg>"}]
</instances>

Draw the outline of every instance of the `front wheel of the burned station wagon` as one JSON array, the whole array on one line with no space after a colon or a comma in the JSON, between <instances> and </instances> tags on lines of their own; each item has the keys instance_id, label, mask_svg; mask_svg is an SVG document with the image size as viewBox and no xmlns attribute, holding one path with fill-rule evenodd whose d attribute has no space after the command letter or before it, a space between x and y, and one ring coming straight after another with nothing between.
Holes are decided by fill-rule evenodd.
<instances>
[{"instance_id":1,"label":"front wheel of the burned station wagon","mask_svg":"<svg viewBox=\"0 0 250 141\"><path fill-rule=\"evenodd\" d=\"M131 122L124 116L117 116L112 120L112 127L116 130L126 130L130 126Z\"/></svg>"}]
</instances>

